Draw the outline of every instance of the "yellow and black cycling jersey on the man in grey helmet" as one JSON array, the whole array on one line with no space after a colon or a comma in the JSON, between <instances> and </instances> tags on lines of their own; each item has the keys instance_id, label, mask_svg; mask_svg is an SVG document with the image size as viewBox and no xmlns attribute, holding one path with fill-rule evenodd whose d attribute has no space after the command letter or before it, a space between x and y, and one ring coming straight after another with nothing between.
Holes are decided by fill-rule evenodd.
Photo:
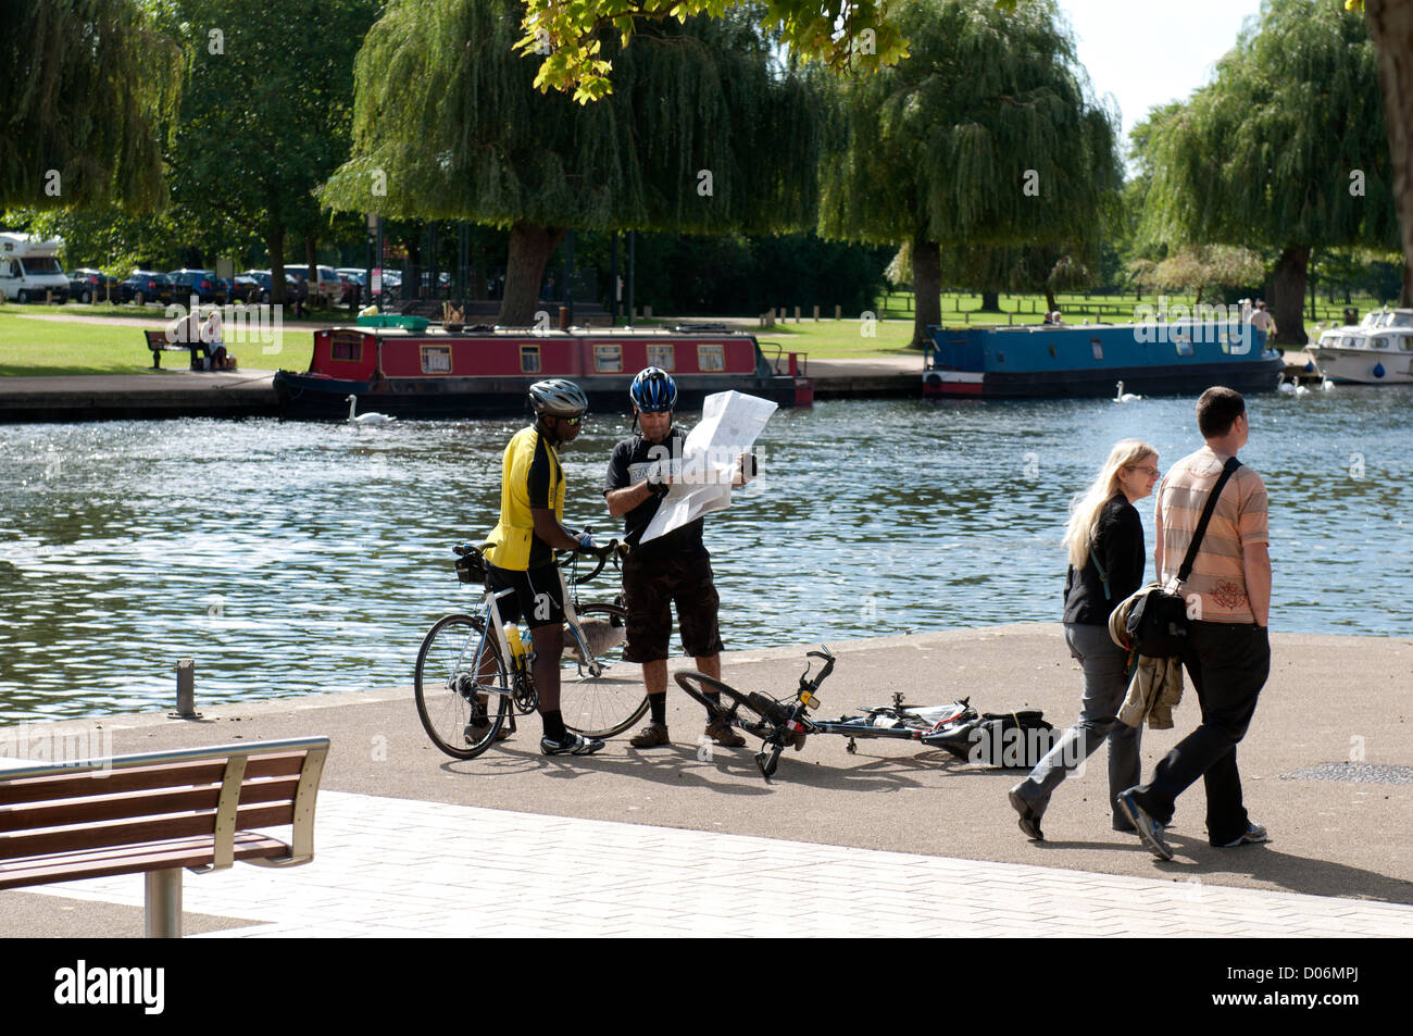
<instances>
[{"instance_id":1,"label":"yellow and black cycling jersey on the man in grey helmet","mask_svg":"<svg viewBox=\"0 0 1413 1036\"><path fill-rule=\"evenodd\" d=\"M550 441L530 427L516 432L500 461L500 522L486 561L516 572L554 563L554 550L534 534L534 507L564 522L564 468Z\"/></svg>"}]
</instances>

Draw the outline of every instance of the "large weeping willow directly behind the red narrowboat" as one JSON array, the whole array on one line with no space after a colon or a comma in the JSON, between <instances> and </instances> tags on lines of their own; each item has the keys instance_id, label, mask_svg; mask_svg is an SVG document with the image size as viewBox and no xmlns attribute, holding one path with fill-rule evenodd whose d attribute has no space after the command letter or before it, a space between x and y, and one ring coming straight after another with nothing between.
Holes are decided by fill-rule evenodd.
<instances>
[{"instance_id":1,"label":"large weeping willow directly behind the red narrowboat","mask_svg":"<svg viewBox=\"0 0 1413 1036\"><path fill-rule=\"evenodd\" d=\"M322 201L510 230L500 322L533 318L568 228L771 233L814 222L818 102L743 14L653 23L578 105L512 54L513 0L393 3L356 64L353 155Z\"/></svg>"}]
</instances>

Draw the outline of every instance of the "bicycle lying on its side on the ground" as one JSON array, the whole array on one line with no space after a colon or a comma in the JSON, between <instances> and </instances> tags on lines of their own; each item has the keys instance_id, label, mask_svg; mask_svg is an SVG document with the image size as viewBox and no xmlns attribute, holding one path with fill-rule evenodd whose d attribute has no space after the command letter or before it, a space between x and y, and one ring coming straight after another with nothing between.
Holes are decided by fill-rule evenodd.
<instances>
[{"instance_id":1,"label":"bicycle lying on its side on the ground","mask_svg":"<svg viewBox=\"0 0 1413 1036\"><path fill-rule=\"evenodd\" d=\"M725 721L764 742L756 752L756 766L767 782L780 763L780 753L790 746L798 752L805 738L812 734L836 734L849 739L845 750L858 750L858 741L887 738L893 741L917 741L928 748L938 748L964 762L1007 765L1002 752L1002 735L1009 731L1029 734L1053 734L1050 724L1040 712L978 712L969 698L948 705L909 705L901 691L893 694L890 705L861 708L856 715L838 719L815 719L810 715L818 710L818 690L834 671L835 657L828 647L807 652L807 659L820 659L824 664L820 673L810 678L814 663L807 661L800 674L800 685L794 697L773 698L759 691L738 691L715 677L692 670L677 673L675 680L687 694L706 708L712 721ZM708 697L715 695L715 697ZM1033 756L1037 750L1048 750L1050 738L1031 738L1029 745ZM1033 763L1029 763L1033 765Z\"/></svg>"}]
</instances>

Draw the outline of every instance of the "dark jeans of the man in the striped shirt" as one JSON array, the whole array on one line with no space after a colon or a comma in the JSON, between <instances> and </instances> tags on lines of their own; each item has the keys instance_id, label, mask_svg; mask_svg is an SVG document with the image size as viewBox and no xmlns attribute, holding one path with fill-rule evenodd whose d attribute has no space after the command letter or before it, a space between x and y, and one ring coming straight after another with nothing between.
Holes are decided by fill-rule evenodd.
<instances>
[{"instance_id":1,"label":"dark jeans of the man in the striped shirt","mask_svg":"<svg viewBox=\"0 0 1413 1036\"><path fill-rule=\"evenodd\" d=\"M1207 837L1225 845L1246 832L1236 745L1246 735L1256 697L1270 674L1267 632L1253 625L1194 622L1183 664L1193 678L1202 722L1169 752L1153 779L1135 790L1137 804L1160 824L1173 820L1177 797L1198 777L1207 789Z\"/></svg>"}]
</instances>

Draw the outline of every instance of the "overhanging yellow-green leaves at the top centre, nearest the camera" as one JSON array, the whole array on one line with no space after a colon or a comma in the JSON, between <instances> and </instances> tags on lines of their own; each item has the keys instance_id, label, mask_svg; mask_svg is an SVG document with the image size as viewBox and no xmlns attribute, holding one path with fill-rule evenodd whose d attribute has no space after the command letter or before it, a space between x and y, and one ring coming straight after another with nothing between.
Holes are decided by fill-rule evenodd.
<instances>
[{"instance_id":1,"label":"overhanging yellow-green leaves at the top centre, nearest the camera","mask_svg":"<svg viewBox=\"0 0 1413 1036\"><path fill-rule=\"evenodd\" d=\"M858 72L907 57L890 0L763 0L742 7L801 62L818 58L836 72ZM733 8L731 0L527 0L514 49L543 58L538 89L574 90L574 99L586 103L613 90L609 73L619 58L616 48L605 49L606 38L627 48L646 24L735 17ZM622 65L615 73L622 86L620 76Z\"/></svg>"}]
</instances>

